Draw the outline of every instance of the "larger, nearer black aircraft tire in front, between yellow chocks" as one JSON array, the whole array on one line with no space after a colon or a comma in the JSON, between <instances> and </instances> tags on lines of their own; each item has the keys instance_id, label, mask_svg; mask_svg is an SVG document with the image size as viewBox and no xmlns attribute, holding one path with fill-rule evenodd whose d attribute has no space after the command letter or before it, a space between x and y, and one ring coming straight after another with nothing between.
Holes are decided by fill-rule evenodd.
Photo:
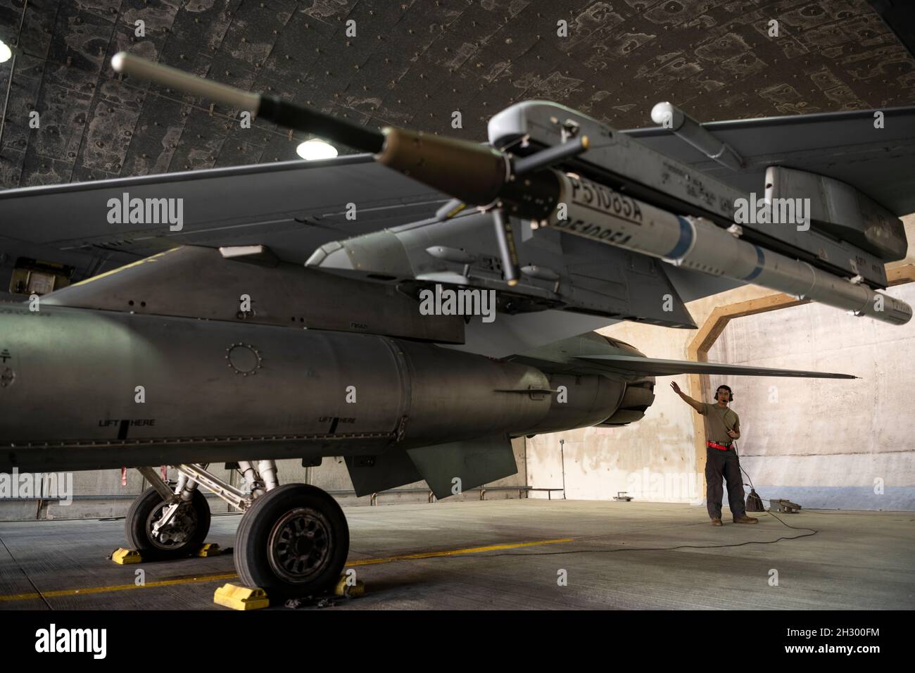
<instances>
[{"instance_id":1,"label":"larger, nearer black aircraft tire in front, between yellow chocks","mask_svg":"<svg viewBox=\"0 0 915 673\"><path fill-rule=\"evenodd\" d=\"M242 585L274 599L305 598L332 589L350 552L350 527L333 497L305 483L287 483L256 498L242 516L235 569Z\"/></svg>"}]
</instances>

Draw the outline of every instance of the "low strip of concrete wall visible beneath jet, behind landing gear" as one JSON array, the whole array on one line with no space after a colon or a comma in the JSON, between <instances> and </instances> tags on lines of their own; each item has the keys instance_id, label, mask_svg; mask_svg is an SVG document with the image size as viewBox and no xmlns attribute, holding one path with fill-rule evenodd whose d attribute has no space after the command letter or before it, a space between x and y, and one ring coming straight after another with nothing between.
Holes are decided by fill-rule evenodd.
<instances>
[{"instance_id":1,"label":"low strip of concrete wall visible beneath jet, behind landing gear","mask_svg":"<svg viewBox=\"0 0 915 673\"><path fill-rule=\"evenodd\" d=\"M497 482L487 484L487 500L504 498L517 498L519 492L512 488L527 484L527 464L524 450L524 439L511 442L515 454L518 472L505 477ZM280 483L311 483L333 494L341 505L370 505L371 497L366 495L357 498L352 490L350 472L346 463L341 458L325 458L318 467L302 467L301 461L277 461ZM228 471L222 465L210 465L210 472L217 477L227 480L233 485L240 485L241 476L235 471ZM19 521L27 519L54 519L54 518L106 518L124 516L137 494L140 494L148 485L145 479L135 470L127 471L126 483L121 483L120 470L100 470L92 472L70 472L64 475L66 480L71 480L70 487L63 491L51 491L48 483L42 494L45 498L10 499L0 497L0 521ZM177 479L178 473L174 469L168 471L170 479ZM3 477L0 476L0 479ZM23 492L19 492L23 493ZM206 493L206 491L205 491ZM0 490L0 495L2 495ZM54 495L51 499L48 496ZM69 505L59 504L58 495L72 495ZM210 511L221 514L235 511L213 494L207 495L210 502ZM457 500L479 500L479 491L470 490L465 494L453 495L449 502ZM425 503L428 502L428 486L425 482L406 484L391 491L378 495L377 505L392 505L394 503Z\"/></svg>"}]
</instances>

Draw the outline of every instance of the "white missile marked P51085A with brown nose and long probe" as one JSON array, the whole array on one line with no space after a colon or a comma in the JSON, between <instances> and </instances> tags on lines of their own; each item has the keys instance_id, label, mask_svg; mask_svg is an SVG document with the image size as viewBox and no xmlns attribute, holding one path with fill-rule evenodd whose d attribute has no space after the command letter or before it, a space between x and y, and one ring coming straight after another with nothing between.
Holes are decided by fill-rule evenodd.
<instances>
[{"instance_id":1,"label":"white missile marked P51085A with brown nose and long probe","mask_svg":"<svg viewBox=\"0 0 915 673\"><path fill-rule=\"evenodd\" d=\"M727 231L704 217L682 216L657 204L620 193L607 184L550 168L587 151L592 140L580 124L565 130L565 136L574 132L574 137L532 155L515 157L495 147L421 131L393 126L373 131L275 96L242 92L124 52L115 55L112 62L115 71L207 96L276 124L371 152L384 166L454 197L456 208L468 205L491 209L502 267L510 285L517 281L520 271L509 215L661 258L675 266L752 282L891 324L904 324L911 319L912 311L908 304L876 293L861 283L860 277L849 282L807 262L741 240L732 233L739 230ZM520 122L519 118L532 105L536 103L513 106L497 114L490 126L507 127L505 136L528 130L525 126L533 125L534 115L531 115L532 119ZM552 107L556 114L564 110L561 105ZM668 114L674 117L679 114L676 124L678 127L684 124L684 115L673 106L670 106ZM692 121L688 117L686 120ZM702 130L701 127L699 129ZM606 145L608 136L612 136L613 132L594 123L594 134L598 142ZM654 157L643 153L635 155L635 158L649 163L648 159ZM686 181L690 178L687 176ZM696 183L701 185L701 179L697 179ZM729 200L731 210L736 207L734 195L739 197L739 193L735 194L732 190ZM720 201L722 194L713 196L719 197ZM876 206L871 204L870 207ZM718 212L722 210L727 212L728 205L724 208L719 205ZM898 219L887 217L877 219L877 223L867 223L865 234L875 251L905 255L906 239Z\"/></svg>"}]
</instances>

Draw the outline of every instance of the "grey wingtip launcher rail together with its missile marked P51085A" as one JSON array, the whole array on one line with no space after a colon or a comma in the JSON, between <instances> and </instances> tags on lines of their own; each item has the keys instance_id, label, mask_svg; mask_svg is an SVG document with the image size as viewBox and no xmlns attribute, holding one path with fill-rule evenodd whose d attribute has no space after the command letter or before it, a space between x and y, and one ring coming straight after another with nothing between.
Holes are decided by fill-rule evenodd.
<instances>
[{"instance_id":1,"label":"grey wingtip launcher rail together with its missile marked P51085A","mask_svg":"<svg viewBox=\"0 0 915 673\"><path fill-rule=\"evenodd\" d=\"M484 145L393 126L375 131L124 52L113 57L112 65L117 72L370 152L389 168L492 211L504 280L510 287L521 275L511 228L511 218L516 218L534 228L553 227L674 266L755 283L891 324L911 319L908 304L875 291L885 287L882 262L876 256L842 242L842 253L865 259L867 265L862 266L871 269L863 277L844 277L845 267L827 265L796 247L785 244L772 250L759 244L761 239L753 233L744 237L739 229L727 231L735 203L745 194L563 105L512 105L492 118L490 144ZM602 147L592 155L596 142ZM516 146L526 147L526 154L517 156L506 149ZM585 167L587 175L573 172L579 167ZM659 179L662 174L678 178Z\"/></svg>"}]
</instances>

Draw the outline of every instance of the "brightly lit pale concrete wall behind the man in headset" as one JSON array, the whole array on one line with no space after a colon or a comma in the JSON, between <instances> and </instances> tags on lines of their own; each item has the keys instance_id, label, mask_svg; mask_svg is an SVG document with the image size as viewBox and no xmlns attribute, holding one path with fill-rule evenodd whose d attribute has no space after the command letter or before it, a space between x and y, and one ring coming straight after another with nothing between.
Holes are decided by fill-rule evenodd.
<instances>
[{"instance_id":1,"label":"brightly lit pale concrete wall behind the man in headset","mask_svg":"<svg viewBox=\"0 0 915 673\"><path fill-rule=\"evenodd\" d=\"M915 216L904 221L909 255L889 266L915 262ZM688 308L702 325L717 306L770 294L745 286ZM887 294L915 305L915 284L889 288ZM633 323L603 332L649 357L679 360L688 359L695 335ZM727 383L735 390L732 408L743 426L738 450L763 497L807 507L915 510L915 320L896 327L816 304L780 309L731 320L708 359L862 377L711 377L712 385ZM689 392L687 376L659 377L655 402L638 423L528 440L531 485L562 485L559 440L565 440L569 498L609 499L626 491L651 502L700 505L705 480L696 472L693 444L698 414L673 393L671 381ZM705 399L711 401L713 392L706 391ZM878 479L883 494L875 494Z\"/></svg>"}]
</instances>

